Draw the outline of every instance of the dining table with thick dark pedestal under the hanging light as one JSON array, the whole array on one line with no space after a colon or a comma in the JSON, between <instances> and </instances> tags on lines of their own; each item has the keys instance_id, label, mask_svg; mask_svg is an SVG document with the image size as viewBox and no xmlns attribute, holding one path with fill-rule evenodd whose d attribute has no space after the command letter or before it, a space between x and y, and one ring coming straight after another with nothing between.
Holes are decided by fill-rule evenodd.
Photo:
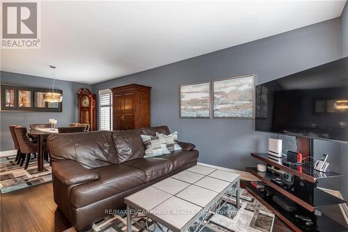
<instances>
[{"instance_id":1,"label":"dining table with thick dark pedestal under the hanging light","mask_svg":"<svg viewBox=\"0 0 348 232\"><path fill-rule=\"evenodd\" d=\"M49 134L58 133L57 129L52 128L35 128L29 130L29 135L38 139L38 171L44 170L44 141Z\"/></svg>"}]
</instances>

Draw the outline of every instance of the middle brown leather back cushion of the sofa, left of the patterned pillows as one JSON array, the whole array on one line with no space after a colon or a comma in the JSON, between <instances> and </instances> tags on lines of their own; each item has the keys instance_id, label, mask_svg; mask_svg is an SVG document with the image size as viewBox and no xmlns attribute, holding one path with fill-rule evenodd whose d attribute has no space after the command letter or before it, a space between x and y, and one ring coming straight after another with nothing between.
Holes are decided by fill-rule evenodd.
<instances>
[{"instance_id":1,"label":"middle brown leather back cushion of the sofa, left of the patterned pillows","mask_svg":"<svg viewBox=\"0 0 348 232\"><path fill-rule=\"evenodd\" d=\"M115 130L113 131L113 142L120 163L144 156L145 147L141 140L140 130Z\"/></svg>"}]
</instances>

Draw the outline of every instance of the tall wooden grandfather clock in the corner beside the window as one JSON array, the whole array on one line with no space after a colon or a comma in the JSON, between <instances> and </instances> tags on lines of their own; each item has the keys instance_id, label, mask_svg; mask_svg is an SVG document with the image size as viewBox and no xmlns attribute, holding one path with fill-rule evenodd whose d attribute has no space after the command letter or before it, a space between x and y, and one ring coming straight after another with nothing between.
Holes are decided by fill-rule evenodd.
<instances>
[{"instance_id":1,"label":"tall wooden grandfather clock in the corner beside the window","mask_svg":"<svg viewBox=\"0 0 348 232\"><path fill-rule=\"evenodd\" d=\"M90 125L90 130L95 130L95 94L88 88L80 88L79 96L79 123Z\"/></svg>"}]
</instances>

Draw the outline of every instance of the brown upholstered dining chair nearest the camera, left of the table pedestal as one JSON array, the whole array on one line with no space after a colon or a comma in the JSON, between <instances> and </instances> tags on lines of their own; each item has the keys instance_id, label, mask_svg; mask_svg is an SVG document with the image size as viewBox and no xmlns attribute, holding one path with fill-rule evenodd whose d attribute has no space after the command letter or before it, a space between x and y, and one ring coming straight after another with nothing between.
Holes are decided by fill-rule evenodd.
<instances>
[{"instance_id":1,"label":"brown upholstered dining chair nearest the camera, left of the table pedestal","mask_svg":"<svg viewBox=\"0 0 348 232\"><path fill-rule=\"evenodd\" d=\"M28 169L31 154L35 154L38 151L38 144L33 144L28 135L26 134L26 127L17 126L15 127L15 134L17 136L19 148L21 150L21 162L20 167L23 166L25 160L24 169Z\"/></svg>"}]
</instances>

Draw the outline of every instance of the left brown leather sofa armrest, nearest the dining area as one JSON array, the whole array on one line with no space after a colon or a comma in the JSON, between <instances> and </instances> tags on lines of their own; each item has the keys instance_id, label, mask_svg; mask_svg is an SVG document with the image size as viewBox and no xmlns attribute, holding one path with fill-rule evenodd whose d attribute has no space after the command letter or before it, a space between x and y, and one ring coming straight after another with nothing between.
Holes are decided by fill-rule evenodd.
<instances>
[{"instance_id":1,"label":"left brown leather sofa armrest, nearest the dining area","mask_svg":"<svg viewBox=\"0 0 348 232\"><path fill-rule=\"evenodd\" d=\"M74 160L58 160L52 162L52 173L65 185L98 180L99 176L93 170L82 167Z\"/></svg>"}]
</instances>

